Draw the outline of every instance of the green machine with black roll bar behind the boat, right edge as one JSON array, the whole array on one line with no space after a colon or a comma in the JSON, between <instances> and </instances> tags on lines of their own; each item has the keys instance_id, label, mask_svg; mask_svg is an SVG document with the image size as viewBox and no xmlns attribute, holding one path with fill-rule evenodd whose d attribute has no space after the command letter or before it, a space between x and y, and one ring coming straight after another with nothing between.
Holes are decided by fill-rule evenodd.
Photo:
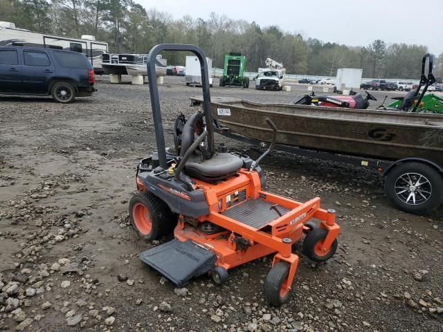
<instances>
[{"instance_id":1,"label":"green machine with black roll bar behind the boat, right edge","mask_svg":"<svg viewBox=\"0 0 443 332\"><path fill-rule=\"evenodd\" d=\"M388 104L387 107L381 106L380 108L395 111L443 114L443 98L434 93L426 93L428 86L434 84L436 81L432 73L433 61L434 55L432 54L426 54L423 57L422 76L420 77L420 83L417 89L410 90L404 97L393 98L395 99L395 102ZM426 66L426 62L428 63L428 66ZM422 93L420 93L422 88Z\"/></svg>"}]
</instances>

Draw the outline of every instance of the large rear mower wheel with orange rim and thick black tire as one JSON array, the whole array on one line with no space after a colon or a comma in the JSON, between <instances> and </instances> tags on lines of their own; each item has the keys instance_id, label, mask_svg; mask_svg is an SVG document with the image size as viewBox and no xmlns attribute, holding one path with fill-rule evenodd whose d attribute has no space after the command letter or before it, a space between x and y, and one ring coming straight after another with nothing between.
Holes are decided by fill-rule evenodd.
<instances>
[{"instance_id":1,"label":"large rear mower wheel with orange rim and thick black tire","mask_svg":"<svg viewBox=\"0 0 443 332\"><path fill-rule=\"evenodd\" d=\"M129 201L129 218L138 234L149 240L174 232L177 218L168 205L150 192L138 193Z\"/></svg>"}]
</instances>

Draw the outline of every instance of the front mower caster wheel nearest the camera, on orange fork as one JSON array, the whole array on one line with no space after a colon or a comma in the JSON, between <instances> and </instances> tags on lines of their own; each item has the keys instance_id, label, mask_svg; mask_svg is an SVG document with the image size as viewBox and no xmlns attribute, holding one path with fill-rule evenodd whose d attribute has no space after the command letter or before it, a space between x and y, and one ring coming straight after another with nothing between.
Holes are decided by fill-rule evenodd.
<instances>
[{"instance_id":1,"label":"front mower caster wheel nearest the camera, on orange fork","mask_svg":"<svg viewBox=\"0 0 443 332\"><path fill-rule=\"evenodd\" d=\"M291 285L287 284L289 264L279 261L269 271L264 281L264 300L271 306L282 306L291 295Z\"/></svg>"}]
</instances>

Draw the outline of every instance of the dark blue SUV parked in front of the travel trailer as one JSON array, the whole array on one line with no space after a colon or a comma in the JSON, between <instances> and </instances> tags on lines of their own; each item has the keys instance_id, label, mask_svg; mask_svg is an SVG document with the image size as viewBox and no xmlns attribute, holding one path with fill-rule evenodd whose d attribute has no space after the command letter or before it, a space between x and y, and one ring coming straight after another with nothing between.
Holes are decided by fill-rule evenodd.
<instances>
[{"instance_id":1,"label":"dark blue SUV parked in front of the travel trailer","mask_svg":"<svg viewBox=\"0 0 443 332\"><path fill-rule=\"evenodd\" d=\"M0 46L0 93L52 95L57 102L68 103L94 91L94 71L82 53Z\"/></svg>"}]
</instances>

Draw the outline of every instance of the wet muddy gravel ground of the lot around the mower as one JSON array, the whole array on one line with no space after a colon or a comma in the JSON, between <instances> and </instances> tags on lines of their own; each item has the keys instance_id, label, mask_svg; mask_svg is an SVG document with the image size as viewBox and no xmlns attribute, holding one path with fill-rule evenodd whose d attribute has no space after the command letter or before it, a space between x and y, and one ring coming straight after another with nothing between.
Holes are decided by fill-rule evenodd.
<instances>
[{"instance_id":1,"label":"wet muddy gravel ground of the lot around the mower","mask_svg":"<svg viewBox=\"0 0 443 332\"><path fill-rule=\"evenodd\" d=\"M291 102L292 91L211 89L213 96ZM270 258L174 286L139 261L147 243L129 225L138 160L155 147L148 87L112 85L73 104L0 97L0 330L11 331L442 331L442 209L395 210L375 172L275 153L269 190L320 196L338 211L337 254L300 255L290 301L264 305ZM199 89L183 77L159 88L165 136ZM314 90L320 94L321 87ZM384 95L376 91L381 104ZM216 137L256 157L255 147Z\"/></svg>"}]
</instances>

